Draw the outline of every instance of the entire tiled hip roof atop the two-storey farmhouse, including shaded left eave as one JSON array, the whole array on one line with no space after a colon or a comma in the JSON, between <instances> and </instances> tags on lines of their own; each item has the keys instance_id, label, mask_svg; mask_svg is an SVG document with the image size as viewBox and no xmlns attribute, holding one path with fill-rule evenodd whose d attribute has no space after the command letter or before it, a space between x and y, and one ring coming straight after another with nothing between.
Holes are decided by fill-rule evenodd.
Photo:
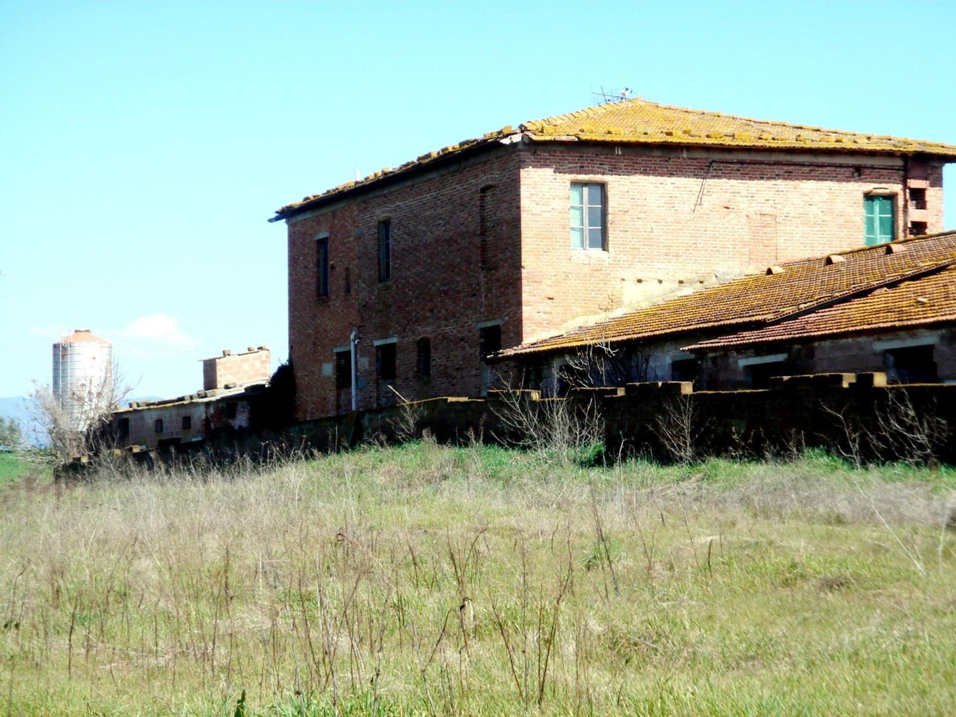
<instances>
[{"instance_id":1,"label":"entire tiled hip roof atop the two-storey farmhouse, including shaded left eave","mask_svg":"<svg viewBox=\"0 0 956 717\"><path fill-rule=\"evenodd\" d=\"M292 216L321 200L358 187L372 185L399 173L418 170L453 155L504 141L600 141L614 144L681 144L837 152L924 153L956 160L956 146L942 142L907 140L888 135L843 132L803 124L753 120L719 112L672 107L644 99L588 107L546 120L532 120L426 152L396 168L385 167L364 179L334 186L277 209L272 221Z\"/></svg>"}]
</instances>

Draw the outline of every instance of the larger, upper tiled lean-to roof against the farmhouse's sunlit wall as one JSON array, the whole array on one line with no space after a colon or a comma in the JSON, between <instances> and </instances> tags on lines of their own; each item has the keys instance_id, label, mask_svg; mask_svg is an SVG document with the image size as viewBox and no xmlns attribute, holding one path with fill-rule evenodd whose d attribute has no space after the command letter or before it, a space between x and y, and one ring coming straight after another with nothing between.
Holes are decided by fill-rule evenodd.
<instances>
[{"instance_id":1,"label":"larger, upper tiled lean-to roof against the farmhouse's sunlit wall","mask_svg":"<svg viewBox=\"0 0 956 717\"><path fill-rule=\"evenodd\" d=\"M516 346L499 357L574 349L601 342L739 330L778 321L956 262L956 231L800 259L680 298ZM782 270L782 271L780 271Z\"/></svg>"}]
</instances>

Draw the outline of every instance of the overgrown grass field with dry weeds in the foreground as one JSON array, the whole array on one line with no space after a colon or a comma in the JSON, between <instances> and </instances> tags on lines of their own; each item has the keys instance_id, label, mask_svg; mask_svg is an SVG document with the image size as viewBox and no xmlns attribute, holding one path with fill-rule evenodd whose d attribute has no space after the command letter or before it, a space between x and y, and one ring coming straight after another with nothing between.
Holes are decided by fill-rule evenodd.
<instances>
[{"instance_id":1,"label":"overgrown grass field with dry weeds in the foreground","mask_svg":"<svg viewBox=\"0 0 956 717\"><path fill-rule=\"evenodd\" d=\"M956 713L950 469L368 448L0 489L0 713Z\"/></svg>"}]
</instances>

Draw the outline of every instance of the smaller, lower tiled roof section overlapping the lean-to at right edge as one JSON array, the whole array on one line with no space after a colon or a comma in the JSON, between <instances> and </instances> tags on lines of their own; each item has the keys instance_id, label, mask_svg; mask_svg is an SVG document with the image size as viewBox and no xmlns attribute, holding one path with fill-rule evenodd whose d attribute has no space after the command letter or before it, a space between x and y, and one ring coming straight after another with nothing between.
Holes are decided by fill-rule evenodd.
<instances>
[{"instance_id":1,"label":"smaller, lower tiled roof section overlapping the lean-to at right edge","mask_svg":"<svg viewBox=\"0 0 956 717\"><path fill-rule=\"evenodd\" d=\"M956 257L954 257L956 259ZM834 337L862 331L897 330L956 322L956 265L903 280L836 306L686 347L687 351Z\"/></svg>"}]
</instances>

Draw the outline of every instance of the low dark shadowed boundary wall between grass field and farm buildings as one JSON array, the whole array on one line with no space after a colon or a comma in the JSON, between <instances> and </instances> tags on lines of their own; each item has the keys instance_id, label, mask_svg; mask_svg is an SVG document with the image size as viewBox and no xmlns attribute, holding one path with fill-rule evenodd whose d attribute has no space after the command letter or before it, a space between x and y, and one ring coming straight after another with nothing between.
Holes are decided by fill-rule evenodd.
<instances>
[{"instance_id":1,"label":"low dark shadowed boundary wall between grass field and farm buildings","mask_svg":"<svg viewBox=\"0 0 956 717\"><path fill-rule=\"evenodd\" d=\"M632 383L614 388L575 391L567 399L547 399L535 391L516 397L529 411L534 403L567 402L570 411L597 411L604 424L609 458L643 454L668 459L661 439L668 415L691 411L695 447L702 456L780 454L803 447L839 451L846 447L842 416L850 425L880 431L880 415L894 403L910 402L917 415L933 415L947 426L938 445L941 460L956 462L956 384L886 385L882 373L816 374L777 380L774 387L744 391L694 391L679 381ZM440 442L494 443L506 439L513 426L502 424L503 402L515 397L492 392L487 399L442 398L410 406L386 406L351 416L332 416L299 424L292 430L295 445L334 449L369 440L397 440L397 427L407 424L411 408L419 434L427 429ZM663 423L662 423L663 422ZM883 458L906 459L910 456Z\"/></svg>"}]
</instances>

